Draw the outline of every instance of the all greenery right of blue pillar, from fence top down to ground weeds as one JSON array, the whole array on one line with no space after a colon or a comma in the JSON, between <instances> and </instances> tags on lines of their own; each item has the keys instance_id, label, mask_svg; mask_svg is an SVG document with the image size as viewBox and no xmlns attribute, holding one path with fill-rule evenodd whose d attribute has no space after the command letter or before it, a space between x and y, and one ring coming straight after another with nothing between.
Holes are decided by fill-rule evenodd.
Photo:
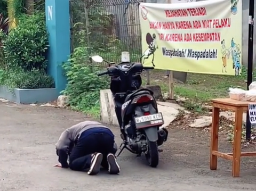
<instances>
[{"instance_id":1,"label":"all greenery right of blue pillar, from fence top down to ground weeds","mask_svg":"<svg viewBox=\"0 0 256 191\"><path fill-rule=\"evenodd\" d=\"M107 9L98 0L70 1L73 54L64 64L68 85L63 93L69 96L72 109L94 117L100 114L100 89L108 88L109 80L95 75L104 69L87 66L89 56L101 55L108 61L118 62L123 51L130 51L131 61L138 61L141 54L116 37L115 18Z\"/></svg>"}]
</instances>

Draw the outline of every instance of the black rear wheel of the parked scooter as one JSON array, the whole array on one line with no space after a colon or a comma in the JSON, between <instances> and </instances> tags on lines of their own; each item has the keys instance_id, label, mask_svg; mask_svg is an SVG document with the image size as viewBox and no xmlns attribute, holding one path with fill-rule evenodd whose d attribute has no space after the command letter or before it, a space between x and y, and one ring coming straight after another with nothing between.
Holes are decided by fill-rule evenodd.
<instances>
[{"instance_id":1,"label":"black rear wheel of the parked scooter","mask_svg":"<svg viewBox=\"0 0 256 191\"><path fill-rule=\"evenodd\" d=\"M156 142L148 141L148 152L145 155L149 166L156 168L159 162L158 147Z\"/></svg>"}]
</instances>

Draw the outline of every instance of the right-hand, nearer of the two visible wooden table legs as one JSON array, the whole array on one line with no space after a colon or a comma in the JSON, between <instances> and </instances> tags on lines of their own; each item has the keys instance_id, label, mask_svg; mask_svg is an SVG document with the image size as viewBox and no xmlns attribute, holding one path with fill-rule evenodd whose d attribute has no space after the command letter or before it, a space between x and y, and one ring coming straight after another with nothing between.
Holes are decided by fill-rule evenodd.
<instances>
[{"instance_id":1,"label":"right-hand, nearer of the two visible wooden table legs","mask_svg":"<svg viewBox=\"0 0 256 191\"><path fill-rule=\"evenodd\" d=\"M242 126L243 126L243 110L242 108L238 108L236 110L235 127L234 127L233 161L232 161L233 177L239 177L240 175Z\"/></svg>"}]
</instances>

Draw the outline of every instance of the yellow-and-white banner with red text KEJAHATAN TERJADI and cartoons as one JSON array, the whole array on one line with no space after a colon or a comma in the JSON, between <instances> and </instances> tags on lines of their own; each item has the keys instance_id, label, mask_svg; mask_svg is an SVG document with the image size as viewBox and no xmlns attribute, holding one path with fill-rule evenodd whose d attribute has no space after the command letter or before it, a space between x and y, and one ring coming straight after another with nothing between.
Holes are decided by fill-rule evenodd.
<instances>
[{"instance_id":1,"label":"yellow-and-white banner with red text KEJAHATAN TERJADI and cartoons","mask_svg":"<svg viewBox=\"0 0 256 191\"><path fill-rule=\"evenodd\" d=\"M142 63L156 69L241 73L242 1L141 3Z\"/></svg>"}]
</instances>

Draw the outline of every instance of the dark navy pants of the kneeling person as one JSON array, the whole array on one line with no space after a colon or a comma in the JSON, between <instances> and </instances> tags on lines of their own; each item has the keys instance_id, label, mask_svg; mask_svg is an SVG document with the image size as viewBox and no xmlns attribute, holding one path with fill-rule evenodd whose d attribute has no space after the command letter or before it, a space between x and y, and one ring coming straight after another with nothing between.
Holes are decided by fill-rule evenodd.
<instances>
[{"instance_id":1,"label":"dark navy pants of the kneeling person","mask_svg":"<svg viewBox=\"0 0 256 191\"><path fill-rule=\"evenodd\" d=\"M107 155L116 153L114 143L114 135L109 129L98 129L90 135L83 132L69 155L69 168L78 171L89 169L92 154L97 152L103 155L101 166L108 169Z\"/></svg>"}]
</instances>

